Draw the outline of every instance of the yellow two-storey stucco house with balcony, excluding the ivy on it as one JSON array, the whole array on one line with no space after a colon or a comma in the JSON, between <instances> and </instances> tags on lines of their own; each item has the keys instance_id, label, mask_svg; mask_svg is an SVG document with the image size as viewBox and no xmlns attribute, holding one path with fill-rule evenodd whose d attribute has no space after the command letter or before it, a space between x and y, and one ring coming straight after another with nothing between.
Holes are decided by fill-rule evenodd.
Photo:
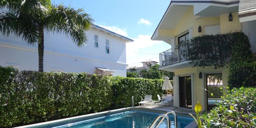
<instances>
[{"instance_id":1,"label":"yellow two-storey stucco house with balcony, excluding the ivy on it","mask_svg":"<svg viewBox=\"0 0 256 128\"><path fill-rule=\"evenodd\" d=\"M160 70L175 73L175 107L193 110L199 101L203 110L211 109L218 99L212 98L205 89L220 90L221 86L227 86L228 76L225 68L192 67L187 61L189 42L180 42L195 36L233 31L250 34L251 50L255 54L255 0L171 0L151 40L165 41L172 46L160 53Z\"/></svg>"}]
</instances>

